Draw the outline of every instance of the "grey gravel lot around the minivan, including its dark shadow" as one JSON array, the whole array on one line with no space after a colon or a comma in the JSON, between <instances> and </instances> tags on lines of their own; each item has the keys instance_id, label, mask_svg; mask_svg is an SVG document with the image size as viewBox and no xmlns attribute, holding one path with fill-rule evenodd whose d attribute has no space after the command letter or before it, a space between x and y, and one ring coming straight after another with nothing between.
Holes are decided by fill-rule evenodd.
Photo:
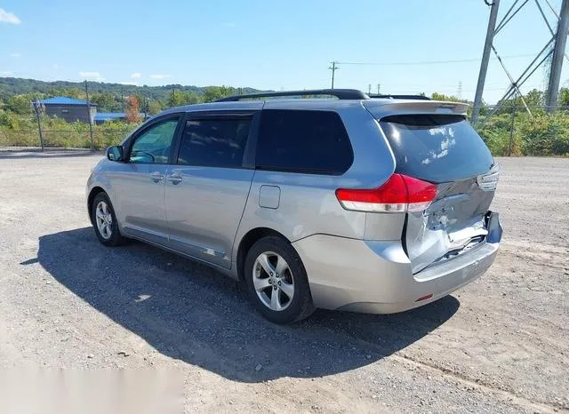
<instances>
[{"instance_id":1,"label":"grey gravel lot around the minivan, including its dark shadow","mask_svg":"<svg viewBox=\"0 0 569 414\"><path fill-rule=\"evenodd\" d=\"M99 159L0 153L0 370L172 370L190 412L569 410L569 159L500 160L505 234L476 283L287 327L207 267L103 247L84 206Z\"/></svg>"}]
</instances>

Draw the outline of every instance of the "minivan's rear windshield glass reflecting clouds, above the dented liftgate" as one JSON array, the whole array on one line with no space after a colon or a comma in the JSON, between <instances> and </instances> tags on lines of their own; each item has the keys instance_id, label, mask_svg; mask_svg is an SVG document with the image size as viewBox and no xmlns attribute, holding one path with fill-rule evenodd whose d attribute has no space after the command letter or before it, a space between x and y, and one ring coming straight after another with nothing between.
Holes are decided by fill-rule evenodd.
<instances>
[{"instance_id":1,"label":"minivan's rear windshield glass reflecting clouds, above the dented liftgate","mask_svg":"<svg viewBox=\"0 0 569 414\"><path fill-rule=\"evenodd\" d=\"M390 115L380 124L402 174L437 183L476 177L493 165L462 115Z\"/></svg>"}]
</instances>

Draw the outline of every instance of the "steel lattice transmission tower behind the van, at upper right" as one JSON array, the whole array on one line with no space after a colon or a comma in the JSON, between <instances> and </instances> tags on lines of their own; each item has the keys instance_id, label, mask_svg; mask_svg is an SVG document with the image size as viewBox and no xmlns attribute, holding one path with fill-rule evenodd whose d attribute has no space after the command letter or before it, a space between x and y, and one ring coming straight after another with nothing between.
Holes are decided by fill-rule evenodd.
<instances>
[{"instance_id":1,"label":"steel lattice transmission tower behind the van, at upper right","mask_svg":"<svg viewBox=\"0 0 569 414\"><path fill-rule=\"evenodd\" d=\"M549 82L548 90L546 93L546 105L549 112L553 112L557 107L557 95L559 93L559 84L561 80L561 69L563 68L563 60L569 60L569 57L565 53L565 44L567 40L567 28L569 26L569 0L563 0L561 4L561 10L557 12L553 6L550 4L549 0L534 0L532 3L529 0L520 2L520 0L514 0L513 4L509 7L508 12L504 14L500 22L496 24L498 20L498 10L500 8L500 0L484 0L485 4L490 7L490 18L488 20L488 29L486 31L486 41L484 52L482 54L482 62L480 64L480 73L478 75L477 92L474 98L474 108L472 111L472 123L477 122L478 114L480 112L480 106L482 105L482 95L484 93L484 86L486 80L486 72L488 70L488 60L490 60L490 53L493 52L498 61L500 62L501 68L509 78L509 88L498 104L493 109L495 113L506 100L509 100L512 96L518 95L522 100L525 110L532 115L529 107L527 107L524 96L520 91L520 86L525 84L525 82L535 73L535 71L543 65L543 63L549 60L549 57L553 55L551 59L551 67L549 68ZM492 1L492 3L490 3ZM557 16L556 30L554 31L554 26L552 26L543 12L543 3L549 6L549 9ZM545 21L545 24L549 28L549 33L551 33L551 38L549 42L543 46L541 52L532 60L532 62L525 68L517 79L509 73L508 68L501 60L500 54L496 51L496 47L493 44L494 36L498 35L501 30L512 20L517 13L524 7L529 7L527 4L533 4L537 7L541 14L541 18ZM537 14L537 13L536 13ZM553 45L553 47L551 47ZM491 114L491 115L492 115ZM488 116L489 117L489 116ZM486 119L488 119L486 117Z\"/></svg>"}]
</instances>

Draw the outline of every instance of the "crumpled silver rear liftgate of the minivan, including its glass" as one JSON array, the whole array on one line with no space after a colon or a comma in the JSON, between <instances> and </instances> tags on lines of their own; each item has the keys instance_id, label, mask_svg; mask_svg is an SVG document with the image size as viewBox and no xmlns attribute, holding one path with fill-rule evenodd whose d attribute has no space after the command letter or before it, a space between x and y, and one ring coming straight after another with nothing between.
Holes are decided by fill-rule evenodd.
<instances>
[{"instance_id":1,"label":"crumpled silver rear liftgate of the minivan, including its glass","mask_svg":"<svg viewBox=\"0 0 569 414\"><path fill-rule=\"evenodd\" d=\"M408 213L404 243L413 273L485 240L499 170L464 115L388 115L380 120L396 172L437 184L426 211Z\"/></svg>"}]
</instances>

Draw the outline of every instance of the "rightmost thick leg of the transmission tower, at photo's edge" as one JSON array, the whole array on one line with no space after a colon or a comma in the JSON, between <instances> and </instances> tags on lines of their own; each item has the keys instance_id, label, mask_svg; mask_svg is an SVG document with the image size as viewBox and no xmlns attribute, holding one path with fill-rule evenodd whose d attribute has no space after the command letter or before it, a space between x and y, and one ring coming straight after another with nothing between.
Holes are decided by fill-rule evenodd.
<instances>
[{"instance_id":1,"label":"rightmost thick leg of the transmission tower, at photo's edge","mask_svg":"<svg viewBox=\"0 0 569 414\"><path fill-rule=\"evenodd\" d=\"M567 28L569 27L569 0L563 0L561 12L559 12L559 23L555 36L555 49L549 69L548 92L545 99L547 111L552 113L557 108L557 97L559 95L559 82L561 81L561 69L565 56L565 44L567 43Z\"/></svg>"}]
</instances>

